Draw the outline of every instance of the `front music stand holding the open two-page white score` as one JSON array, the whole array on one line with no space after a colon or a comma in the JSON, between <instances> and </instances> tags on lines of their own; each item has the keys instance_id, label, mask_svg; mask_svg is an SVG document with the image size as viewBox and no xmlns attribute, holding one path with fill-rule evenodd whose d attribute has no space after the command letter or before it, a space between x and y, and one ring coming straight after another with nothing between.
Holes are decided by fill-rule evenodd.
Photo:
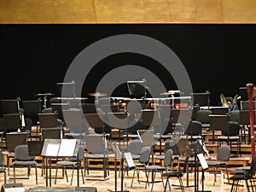
<instances>
[{"instance_id":1,"label":"front music stand holding the open two-page white score","mask_svg":"<svg viewBox=\"0 0 256 192\"><path fill-rule=\"evenodd\" d=\"M51 187L51 159L78 157L79 139L45 139L41 156L45 160L46 187ZM48 177L49 169L49 177ZM49 180L49 181L48 181ZM79 168L77 169L79 186Z\"/></svg>"}]
</instances>

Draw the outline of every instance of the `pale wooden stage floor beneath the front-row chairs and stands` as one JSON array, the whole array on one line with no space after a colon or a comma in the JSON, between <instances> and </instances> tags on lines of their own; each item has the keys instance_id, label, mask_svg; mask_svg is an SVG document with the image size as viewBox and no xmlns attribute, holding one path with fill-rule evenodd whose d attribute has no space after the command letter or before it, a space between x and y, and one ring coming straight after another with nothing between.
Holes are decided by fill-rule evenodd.
<instances>
[{"instance_id":1,"label":"pale wooden stage floor beneath the front-row chairs and stands","mask_svg":"<svg viewBox=\"0 0 256 192\"><path fill-rule=\"evenodd\" d=\"M102 177L102 171L90 171L90 175L86 176L86 177ZM149 185L149 187L147 189L145 189L145 183L137 183L137 178L135 178L134 182L133 182L133 186L131 188L131 177L132 177L132 173L133 171L129 171L129 176L125 175L125 179L124 179L124 189L127 189L129 191L140 191L140 192L146 192L146 191L150 191L151 190L151 184ZM66 177L65 178L61 178L61 171L58 172L58 178L57 179L57 183L55 184L55 179L53 178L51 181L51 187L63 187L63 188L67 188L67 187L75 187L77 186L77 175L76 172L74 173L74 177L73 177L73 185L70 185L70 179L71 179L71 174L72 174L72 170L67 170L67 174L68 174L68 181L69 183L67 183ZM80 174L80 172L79 172ZM13 169L12 167L10 168L10 175L9 177L13 176ZM17 168L17 172L16 172L16 177L25 177L26 176L26 168ZM52 176L55 176L55 169L52 170ZM144 172L140 172L140 179L144 180L145 179L145 174ZM201 176L201 173L200 173ZM223 177L223 173L218 174L217 175L217 183L215 184L215 186L213 186L213 179L214 176L212 173L209 172L205 172L205 184L204 184L204 189L205 190L211 190L211 191L218 191L218 192L228 192L230 191L231 185L226 183L226 179L224 179ZM8 177L8 183L14 183L14 180ZM201 178L201 177L200 177ZM120 177L118 177L117 179L118 181L118 190L120 190ZM156 180L160 180L160 174L157 173L156 176ZM201 180L200 180L201 181ZM164 180L164 182L166 182L166 180ZM178 180L176 178L172 178L171 179L172 184L178 184ZM3 184L3 174L1 175L1 180L0 180L1 185ZM36 180L35 180L35 170L34 168L32 168L32 175L30 176L29 179L16 179L16 183L23 183L24 188L25 189L32 189L32 188L36 188L38 186L46 186L46 180L44 177L41 176L41 168L38 168L38 185L36 185ZM97 189L97 191L99 192L104 192L104 191L108 191L108 189L110 190L114 190L114 172L110 171L109 172L109 177L108 180L91 180L91 179L85 179L85 183L83 184L82 181L82 177L81 175L79 175L79 183L80 183L80 187L95 187ZM183 184L184 186L186 186L187 182L186 182L186 174L183 176ZM189 173L189 185L193 185L194 184L194 174ZM201 190L201 182L199 185L199 189ZM159 191L162 192L164 191L163 185L162 183L154 183L154 190L153 191ZM167 190L169 191L169 190ZM172 186L172 191L181 191L181 189L179 189L178 187L174 187ZM185 188L185 191L194 191L194 187L189 187L189 188ZM247 191L247 189L243 186L240 187L239 191Z\"/></svg>"}]
</instances>

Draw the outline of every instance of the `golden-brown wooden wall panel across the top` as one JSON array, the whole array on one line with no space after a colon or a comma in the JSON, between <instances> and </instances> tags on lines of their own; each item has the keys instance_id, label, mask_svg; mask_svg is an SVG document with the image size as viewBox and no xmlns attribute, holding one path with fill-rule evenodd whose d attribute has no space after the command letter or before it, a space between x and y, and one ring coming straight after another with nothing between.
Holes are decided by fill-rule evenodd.
<instances>
[{"instance_id":1,"label":"golden-brown wooden wall panel across the top","mask_svg":"<svg viewBox=\"0 0 256 192\"><path fill-rule=\"evenodd\" d=\"M254 0L0 0L0 23L255 23Z\"/></svg>"}]
</instances>

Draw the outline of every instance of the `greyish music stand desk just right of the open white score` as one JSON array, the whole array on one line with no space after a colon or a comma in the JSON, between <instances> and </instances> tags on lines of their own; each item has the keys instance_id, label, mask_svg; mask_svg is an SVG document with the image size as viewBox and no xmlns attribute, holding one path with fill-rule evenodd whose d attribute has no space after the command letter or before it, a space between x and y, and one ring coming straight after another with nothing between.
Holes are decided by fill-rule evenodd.
<instances>
[{"instance_id":1,"label":"greyish music stand desk just right of the open white score","mask_svg":"<svg viewBox=\"0 0 256 192\"><path fill-rule=\"evenodd\" d=\"M106 146L103 137L95 135L86 135L84 136L85 149L92 154L105 154Z\"/></svg>"}]
</instances>

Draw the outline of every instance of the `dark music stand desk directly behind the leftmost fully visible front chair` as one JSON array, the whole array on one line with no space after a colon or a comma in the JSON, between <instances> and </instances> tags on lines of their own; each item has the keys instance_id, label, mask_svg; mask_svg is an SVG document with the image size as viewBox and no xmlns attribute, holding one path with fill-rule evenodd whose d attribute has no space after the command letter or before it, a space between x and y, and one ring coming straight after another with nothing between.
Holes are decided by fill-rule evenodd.
<instances>
[{"instance_id":1,"label":"dark music stand desk directly behind the leftmost fully visible front chair","mask_svg":"<svg viewBox=\"0 0 256 192\"><path fill-rule=\"evenodd\" d=\"M18 145L26 144L26 132L10 132L6 134L6 148L9 152L15 152Z\"/></svg>"}]
</instances>

